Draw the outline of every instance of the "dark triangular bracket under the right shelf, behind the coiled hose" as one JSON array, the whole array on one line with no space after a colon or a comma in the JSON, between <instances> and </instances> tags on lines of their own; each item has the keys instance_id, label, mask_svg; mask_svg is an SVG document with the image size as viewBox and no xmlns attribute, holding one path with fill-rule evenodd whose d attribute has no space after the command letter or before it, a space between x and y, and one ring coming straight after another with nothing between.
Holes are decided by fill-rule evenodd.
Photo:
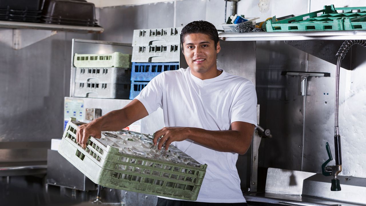
<instances>
[{"instance_id":1,"label":"dark triangular bracket under the right shelf, behind the coiled hose","mask_svg":"<svg viewBox=\"0 0 366 206\"><path fill-rule=\"evenodd\" d=\"M343 42L344 40L291 40L285 41L285 44L336 65L336 54ZM348 55L342 60L342 68L347 70L355 69L355 55L352 55L353 53L356 54L355 49L356 47L352 47L350 51L348 51Z\"/></svg>"}]
</instances>

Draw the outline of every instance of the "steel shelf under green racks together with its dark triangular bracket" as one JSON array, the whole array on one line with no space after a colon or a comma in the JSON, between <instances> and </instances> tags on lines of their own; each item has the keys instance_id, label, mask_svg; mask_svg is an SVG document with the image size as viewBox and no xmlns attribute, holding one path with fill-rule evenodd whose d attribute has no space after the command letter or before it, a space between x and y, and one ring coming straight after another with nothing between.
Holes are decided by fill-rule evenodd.
<instances>
[{"instance_id":1,"label":"steel shelf under green racks together with its dark triangular bracket","mask_svg":"<svg viewBox=\"0 0 366 206\"><path fill-rule=\"evenodd\" d=\"M285 41L301 51L316 56L332 64L337 63L335 55L344 40L366 40L366 30L313 31L313 32L247 32L219 33L224 41ZM323 40L323 41L319 41ZM324 41L332 40L332 41ZM353 70L355 47L352 47L341 67Z\"/></svg>"}]
</instances>

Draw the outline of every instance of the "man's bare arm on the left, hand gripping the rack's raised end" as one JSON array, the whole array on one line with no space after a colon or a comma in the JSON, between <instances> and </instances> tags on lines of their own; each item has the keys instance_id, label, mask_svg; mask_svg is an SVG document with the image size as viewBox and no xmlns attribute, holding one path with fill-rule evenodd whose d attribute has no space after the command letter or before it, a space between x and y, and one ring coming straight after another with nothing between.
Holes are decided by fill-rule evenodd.
<instances>
[{"instance_id":1,"label":"man's bare arm on the left, hand gripping the rack's raised end","mask_svg":"<svg viewBox=\"0 0 366 206\"><path fill-rule=\"evenodd\" d=\"M134 99L120 110L113 110L88 124L81 125L76 131L76 141L85 148L89 136L101 138L101 131L117 131L149 115L143 104Z\"/></svg>"}]
</instances>

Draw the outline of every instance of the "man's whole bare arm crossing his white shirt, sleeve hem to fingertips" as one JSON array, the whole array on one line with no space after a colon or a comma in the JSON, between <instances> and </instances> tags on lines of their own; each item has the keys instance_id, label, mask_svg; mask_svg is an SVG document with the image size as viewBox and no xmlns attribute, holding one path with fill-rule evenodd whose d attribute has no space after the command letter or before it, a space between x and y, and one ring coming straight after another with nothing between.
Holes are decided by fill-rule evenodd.
<instances>
[{"instance_id":1,"label":"man's whole bare arm crossing his white shirt, sleeve hem to fingertips","mask_svg":"<svg viewBox=\"0 0 366 206\"><path fill-rule=\"evenodd\" d=\"M165 148L168 149L173 141L190 139L220 152L245 154L250 147L254 128L255 125L241 121L232 122L231 130L220 131L193 127L164 127L155 133L153 142L155 145L158 137L163 136L158 143L160 150L164 142Z\"/></svg>"}]
</instances>

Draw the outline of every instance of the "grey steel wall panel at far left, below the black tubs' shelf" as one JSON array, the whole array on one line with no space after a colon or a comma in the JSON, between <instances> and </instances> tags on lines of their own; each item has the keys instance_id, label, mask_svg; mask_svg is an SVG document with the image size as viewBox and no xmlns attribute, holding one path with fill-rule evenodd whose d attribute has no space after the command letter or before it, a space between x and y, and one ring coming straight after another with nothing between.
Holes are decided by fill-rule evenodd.
<instances>
[{"instance_id":1,"label":"grey steel wall panel at far left, below the black tubs' shelf","mask_svg":"<svg viewBox=\"0 0 366 206\"><path fill-rule=\"evenodd\" d=\"M46 141L62 133L73 34L60 32L20 50L0 51L0 141ZM91 34L79 34L92 38ZM70 50L68 50L70 49ZM67 86L68 87L68 86Z\"/></svg>"}]
</instances>

